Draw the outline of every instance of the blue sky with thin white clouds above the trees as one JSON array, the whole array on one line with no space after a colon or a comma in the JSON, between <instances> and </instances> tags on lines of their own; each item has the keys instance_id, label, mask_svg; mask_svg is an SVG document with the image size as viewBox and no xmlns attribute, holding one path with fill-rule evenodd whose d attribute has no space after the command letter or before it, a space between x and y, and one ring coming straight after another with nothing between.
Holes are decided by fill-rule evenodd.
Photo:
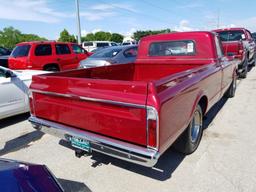
<instances>
[{"instance_id":1,"label":"blue sky with thin white clouds above the trees","mask_svg":"<svg viewBox=\"0 0 256 192\"><path fill-rule=\"evenodd\" d=\"M255 0L79 0L82 35L107 31L211 30L219 26L256 31ZM75 0L0 0L0 30L13 26L55 40L65 28L77 33Z\"/></svg>"}]
</instances>

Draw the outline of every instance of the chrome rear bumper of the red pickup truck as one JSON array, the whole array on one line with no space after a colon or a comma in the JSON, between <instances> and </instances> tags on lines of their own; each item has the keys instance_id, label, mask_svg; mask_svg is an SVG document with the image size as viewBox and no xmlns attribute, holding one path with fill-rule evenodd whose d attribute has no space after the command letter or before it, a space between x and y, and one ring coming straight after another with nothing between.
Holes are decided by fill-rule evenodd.
<instances>
[{"instance_id":1,"label":"chrome rear bumper of the red pickup truck","mask_svg":"<svg viewBox=\"0 0 256 192\"><path fill-rule=\"evenodd\" d=\"M97 151L146 167L153 167L160 156L159 152L153 149L115 140L34 116L31 116L29 121L35 129L44 133L67 141L69 141L70 137L78 137L88 141L92 151Z\"/></svg>"}]
</instances>

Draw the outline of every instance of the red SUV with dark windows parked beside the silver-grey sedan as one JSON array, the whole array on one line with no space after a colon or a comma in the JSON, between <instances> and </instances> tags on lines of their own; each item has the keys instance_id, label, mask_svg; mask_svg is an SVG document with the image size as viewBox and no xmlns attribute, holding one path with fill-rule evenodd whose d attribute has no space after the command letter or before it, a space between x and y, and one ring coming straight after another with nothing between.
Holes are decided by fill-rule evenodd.
<instances>
[{"instance_id":1,"label":"red SUV with dark windows parked beside the silver-grey sedan","mask_svg":"<svg viewBox=\"0 0 256 192\"><path fill-rule=\"evenodd\" d=\"M62 71L76 69L88 56L90 53L75 43L34 41L17 44L8 61L11 69Z\"/></svg>"}]
</instances>

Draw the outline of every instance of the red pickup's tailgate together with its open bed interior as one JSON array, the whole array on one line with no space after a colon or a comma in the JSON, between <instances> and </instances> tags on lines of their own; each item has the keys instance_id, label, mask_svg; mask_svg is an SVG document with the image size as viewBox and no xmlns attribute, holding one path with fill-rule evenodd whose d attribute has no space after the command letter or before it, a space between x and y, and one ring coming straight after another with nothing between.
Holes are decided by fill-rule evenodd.
<instances>
[{"instance_id":1,"label":"red pickup's tailgate together with its open bed interior","mask_svg":"<svg viewBox=\"0 0 256 192\"><path fill-rule=\"evenodd\" d=\"M35 76L34 115L145 146L149 84L199 66L125 64Z\"/></svg>"}]
</instances>

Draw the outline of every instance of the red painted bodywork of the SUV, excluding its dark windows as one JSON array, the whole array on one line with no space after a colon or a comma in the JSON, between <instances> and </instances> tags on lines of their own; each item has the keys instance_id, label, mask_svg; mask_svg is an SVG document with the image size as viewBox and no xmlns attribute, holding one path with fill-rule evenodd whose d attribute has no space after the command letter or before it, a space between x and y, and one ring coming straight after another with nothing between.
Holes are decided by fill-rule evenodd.
<instances>
[{"instance_id":1,"label":"red painted bodywork of the SUV, excluding its dark windows","mask_svg":"<svg viewBox=\"0 0 256 192\"><path fill-rule=\"evenodd\" d=\"M51 55L46 56L36 56L35 49L37 45L50 44L52 49ZM65 44L68 45L70 54L57 55L55 45ZM55 64L62 70L76 69L81 60L86 59L91 53L75 53L72 49L72 45L75 43L61 43L55 41L35 41L35 42L24 42L19 43L17 46L30 45L30 50L28 56L23 57L13 57L12 55L8 58L9 68L11 69L34 69L43 70L46 65Z\"/></svg>"}]
</instances>

